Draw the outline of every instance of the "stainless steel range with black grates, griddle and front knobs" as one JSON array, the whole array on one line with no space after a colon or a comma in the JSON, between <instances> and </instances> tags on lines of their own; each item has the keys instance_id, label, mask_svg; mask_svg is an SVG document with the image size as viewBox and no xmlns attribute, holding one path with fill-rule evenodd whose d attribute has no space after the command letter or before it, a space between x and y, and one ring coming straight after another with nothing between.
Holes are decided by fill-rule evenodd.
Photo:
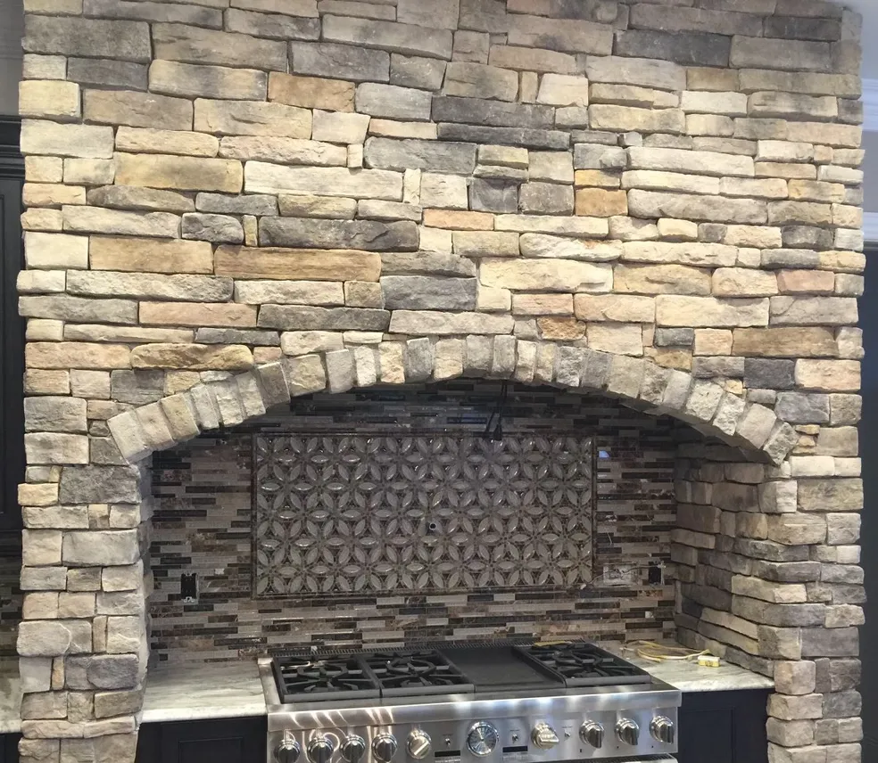
<instances>
[{"instance_id":1,"label":"stainless steel range with black grates, griddle and front knobs","mask_svg":"<svg viewBox=\"0 0 878 763\"><path fill-rule=\"evenodd\" d=\"M680 692L584 642L260 661L269 763L673 761Z\"/></svg>"}]
</instances>

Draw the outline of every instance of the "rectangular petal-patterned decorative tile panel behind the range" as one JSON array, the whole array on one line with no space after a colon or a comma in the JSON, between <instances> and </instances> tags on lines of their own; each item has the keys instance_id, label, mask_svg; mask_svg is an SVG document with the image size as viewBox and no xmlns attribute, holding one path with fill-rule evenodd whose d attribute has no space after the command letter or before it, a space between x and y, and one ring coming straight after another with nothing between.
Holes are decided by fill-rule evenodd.
<instances>
[{"instance_id":1,"label":"rectangular petal-patterned decorative tile panel behind the range","mask_svg":"<svg viewBox=\"0 0 878 763\"><path fill-rule=\"evenodd\" d=\"M258 597L579 587L591 438L257 434Z\"/></svg>"}]
</instances>

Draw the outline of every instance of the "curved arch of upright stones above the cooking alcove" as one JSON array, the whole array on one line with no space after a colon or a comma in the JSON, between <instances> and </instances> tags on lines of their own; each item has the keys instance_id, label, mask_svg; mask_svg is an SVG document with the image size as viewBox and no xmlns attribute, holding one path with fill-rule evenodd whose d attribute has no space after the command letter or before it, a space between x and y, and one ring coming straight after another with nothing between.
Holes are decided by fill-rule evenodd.
<instances>
[{"instance_id":1,"label":"curved arch of upright stones above the cooking alcove","mask_svg":"<svg viewBox=\"0 0 878 763\"><path fill-rule=\"evenodd\" d=\"M117 414L109 427L122 457L142 461L202 432L233 427L291 398L375 384L442 382L459 377L510 379L601 393L667 414L699 431L781 464L798 441L790 424L716 382L664 368L648 358L513 336L418 338L315 351L200 382Z\"/></svg>"}]
</instances>

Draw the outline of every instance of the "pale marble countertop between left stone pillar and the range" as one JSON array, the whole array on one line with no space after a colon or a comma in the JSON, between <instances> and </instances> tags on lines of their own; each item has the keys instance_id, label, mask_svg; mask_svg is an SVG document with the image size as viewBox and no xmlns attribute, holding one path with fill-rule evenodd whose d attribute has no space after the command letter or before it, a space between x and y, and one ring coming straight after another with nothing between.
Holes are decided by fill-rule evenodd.
<instances>
[{"instance_id":1,"label":"pale marble countertop between left stone pillar and the range","mask_svg":"<svg viewBox=\"0 0 878 763\"><path fill-rule=\"evenodd\" d=\"M162 663L146 674L144 723L265 715L256 660Z\"/></svg>"}]
</instances>

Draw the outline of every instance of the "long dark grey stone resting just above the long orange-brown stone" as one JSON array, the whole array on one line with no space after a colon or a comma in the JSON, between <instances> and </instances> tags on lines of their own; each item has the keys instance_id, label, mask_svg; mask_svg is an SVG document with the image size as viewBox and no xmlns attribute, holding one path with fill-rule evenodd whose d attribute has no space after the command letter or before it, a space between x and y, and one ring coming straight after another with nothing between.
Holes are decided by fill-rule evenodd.
<instances>
[{"instance_id":1,"label":"long dark grey stone resting just above the long orange-brown stone","mask_svg":"<svg viewBox=\"0 0 878 763\"><path fill-rule=\"evenodd\" d=\"M302 249L357 249L364 251L418 250L418 226L408 220L329 220L307 217L262 217L263 246Z\"/></svg>"}]
</instances>

